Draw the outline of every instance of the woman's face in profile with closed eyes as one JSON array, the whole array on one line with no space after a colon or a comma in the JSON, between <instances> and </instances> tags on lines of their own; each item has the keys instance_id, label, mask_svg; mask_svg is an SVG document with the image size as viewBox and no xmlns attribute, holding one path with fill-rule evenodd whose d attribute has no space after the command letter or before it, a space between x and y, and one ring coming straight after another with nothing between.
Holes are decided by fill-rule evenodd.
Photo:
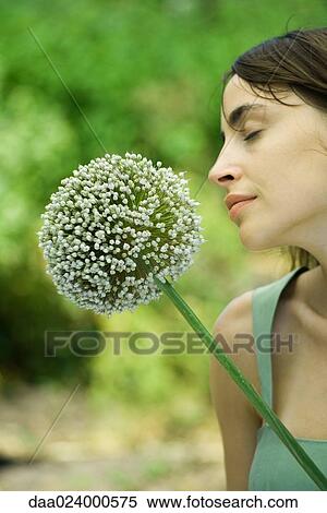
<instances>
[{"instance_id":1,"label":"woman's face in profile with closed eyes","mask_svg":"<svg viewBox=\"0 0 327 513\"><path fill-rule=\"evenodd\" d=\"M279 97L296 107L256 96L238 75L230 80L223 94L227 119L243 104L255 108L234 124L241 132L229 127L221 109L226 139L208 179L226 189L226 195L257 196L234 219L246 248L298 246L311 251L319 240L326 244L327 118L292 92Z\"/></svg>"}]
</instances>

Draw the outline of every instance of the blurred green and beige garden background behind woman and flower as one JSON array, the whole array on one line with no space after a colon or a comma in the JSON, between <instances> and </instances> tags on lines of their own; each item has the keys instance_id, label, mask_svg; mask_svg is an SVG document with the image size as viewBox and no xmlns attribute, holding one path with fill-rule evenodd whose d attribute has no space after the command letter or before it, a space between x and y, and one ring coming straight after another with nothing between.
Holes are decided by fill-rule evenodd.
<instances>
[{"instance_id":1,"label":"blurred green and beige garden background behind woman and flower","mask_svg":"<svg viewBox=\"0 0 327 513\"><path fill-rule=\"evenodd\" d=\"M222 74L326 14L324 0L0 2L1 489L223 489L206 351L117 356L109 342L45 357L47 331L190 331L179 312L166 297L109 319L80 310L46 275L36 231L60 180L105 148L186 170L207 242L177 288L211 330L278 264L242 247L206 179Z\"/></svg>"}]
</instances>

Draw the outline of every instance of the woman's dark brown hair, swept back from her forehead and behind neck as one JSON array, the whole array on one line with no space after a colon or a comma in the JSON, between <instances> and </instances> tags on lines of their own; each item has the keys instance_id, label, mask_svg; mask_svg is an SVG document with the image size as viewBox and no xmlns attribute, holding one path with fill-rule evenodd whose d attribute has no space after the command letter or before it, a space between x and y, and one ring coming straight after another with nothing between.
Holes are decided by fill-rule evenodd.
<instances>
[{"instance_id":1,"label":"woman's dark brown hair, swept back from her forehead and behind neck","mask_svg":"<svg viewBox=\"0 0 327 513\"><path fill-rule=\"evenodd\" d=\"M230 79L238 74L259 97L259 91L270 94L282 105L275 93L296 94L303 102L327 114L327 27L299 28L267 39L237 58L222 76L223 91ZM223 111L225 116L225 111ZM226 118L226 116L225 116ZM235 130L235 129L234 129ZM279 249L290 259L290 270L306 265L315 267L319 262L303 248L286 246Z\"/></svg>"}]
</instances>

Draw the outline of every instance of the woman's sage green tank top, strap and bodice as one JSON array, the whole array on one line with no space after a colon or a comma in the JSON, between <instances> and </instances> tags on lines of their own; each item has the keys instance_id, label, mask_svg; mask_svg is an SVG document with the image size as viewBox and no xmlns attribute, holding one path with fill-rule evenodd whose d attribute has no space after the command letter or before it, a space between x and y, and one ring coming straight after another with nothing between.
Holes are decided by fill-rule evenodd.
<instances>
[{"instance_id":1,"label":"woman's sage green tank top, strap and bodice","mask_svg":"<svg viewBox=\"0 0 327 513\"><path fill-rule=\"evenodd\" d=\"M253 336L262 385L262 397L272 407L271 326L278 299L291 279L306 266L296 267L280 279L253 290ZM257 336L266 336L259 342ZM268 350L267 350L268 349ZM327 440L296 438L317 467L327 476ZM257 444L249 474L249 490L319 490L301 465L265 421L257 430Z\"/></svg>"}]
</instances>

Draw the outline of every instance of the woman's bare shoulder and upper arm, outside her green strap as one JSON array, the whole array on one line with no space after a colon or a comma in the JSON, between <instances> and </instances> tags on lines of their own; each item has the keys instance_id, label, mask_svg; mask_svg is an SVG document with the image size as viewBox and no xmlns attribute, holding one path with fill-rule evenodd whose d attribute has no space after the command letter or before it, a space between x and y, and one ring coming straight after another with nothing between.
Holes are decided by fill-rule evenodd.
<instances>
[{"instance_id":1,"label":"woman's bare shoulder and upper arm, outside her green strap","mask_svg":"<svg viewBox=\"0 0 327 513\"><path fill-rule=\"evenodd\" d=\"M261 393L253 347L252 294L243 293L225 307L213 336ZM210 394L225 449L227 490L247 490L262 417L213 354L209 370Z\"/></svg>"}]
</instances>

